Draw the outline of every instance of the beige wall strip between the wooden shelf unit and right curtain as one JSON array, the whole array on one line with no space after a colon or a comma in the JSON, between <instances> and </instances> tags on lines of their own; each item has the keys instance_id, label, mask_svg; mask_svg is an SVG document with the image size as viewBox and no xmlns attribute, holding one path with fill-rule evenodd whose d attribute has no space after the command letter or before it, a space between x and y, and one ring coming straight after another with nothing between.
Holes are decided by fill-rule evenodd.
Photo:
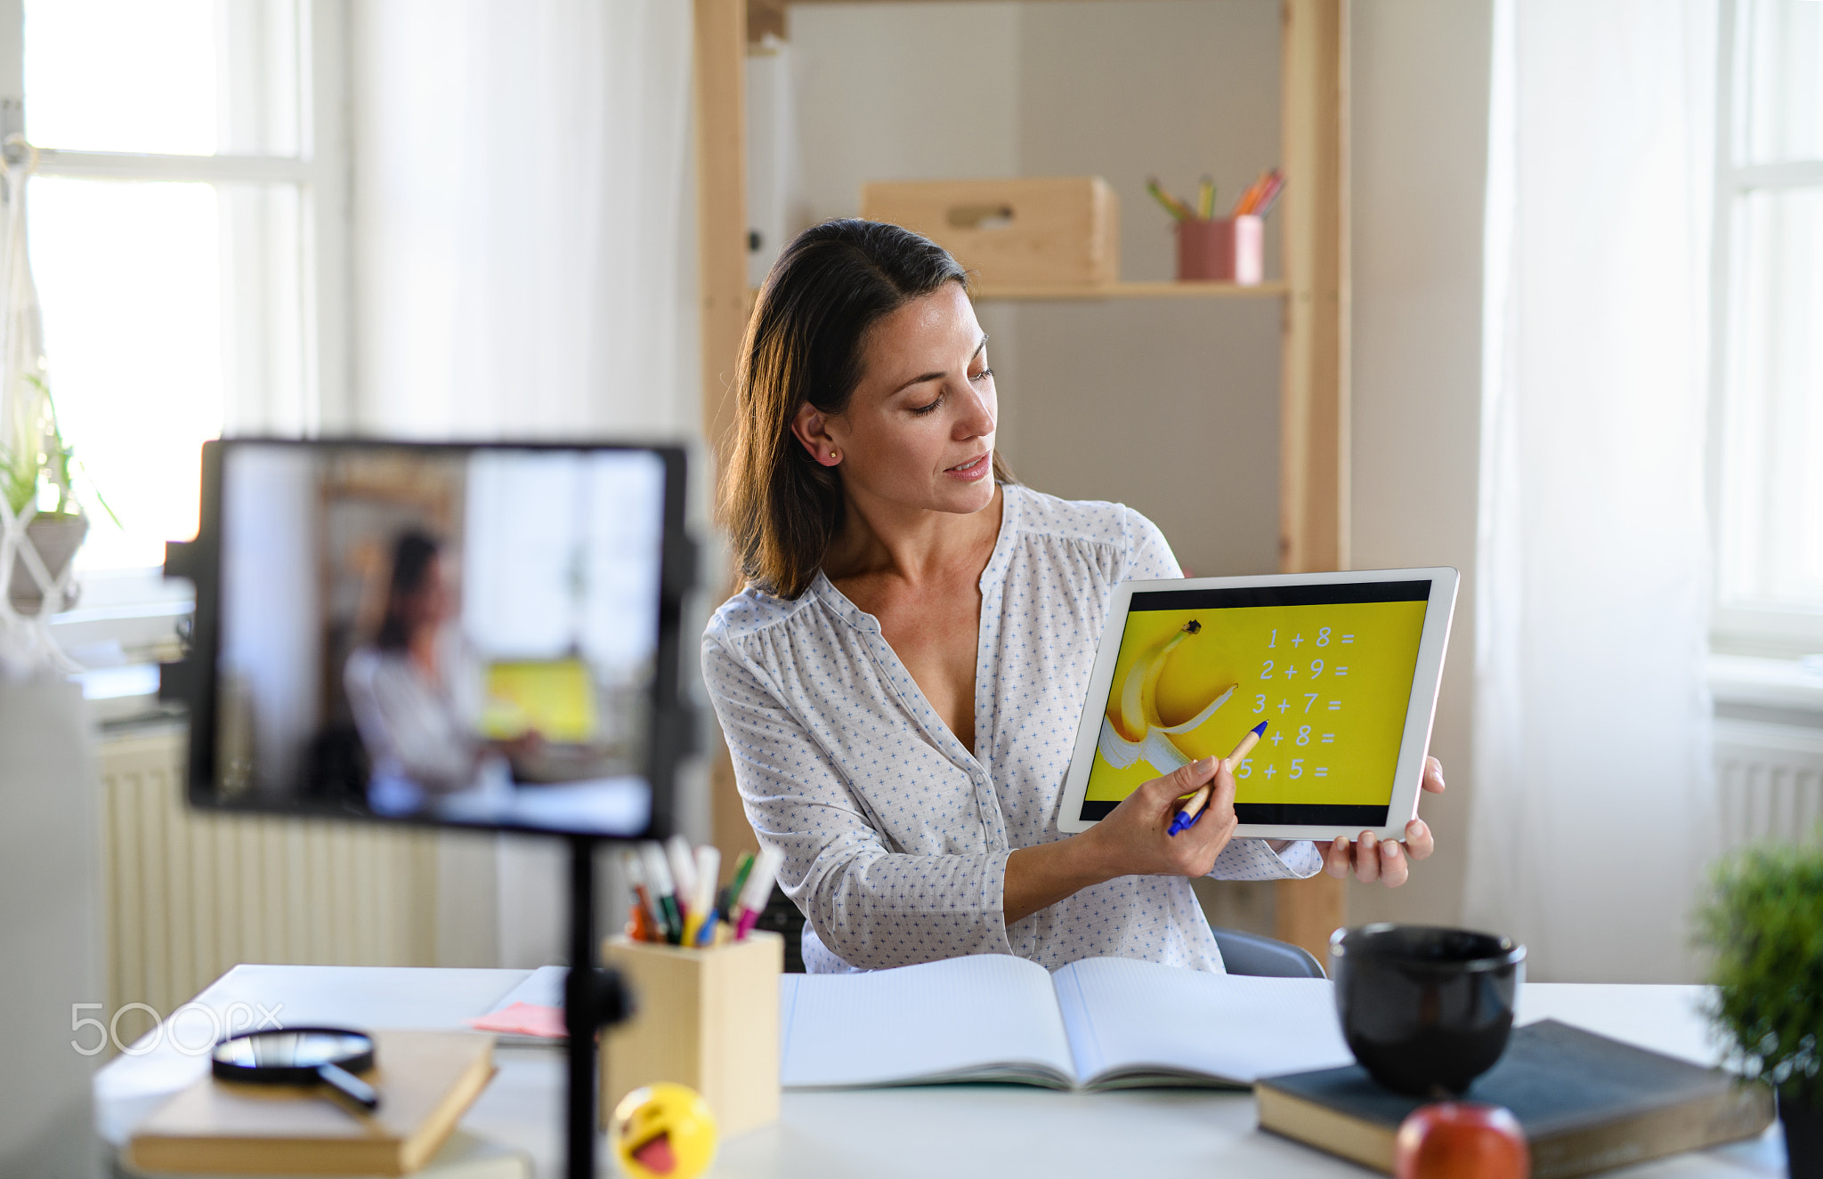
<instances>
[{"instance_id":1,"label":"beige wall strip between the wooden shelf unit and right curtain","mask_svg":"<svg viewBox=\"0 0 1823 1179\"><path fill-rule=\"evenodd\" d=\"M1491 0L1362 0L1353 29L1354 567L1455 565L1464 581L1426 798L1437 855L1349 920L1462 920L1475 682L1482 206Z\"/></svg>"}]
</instances>

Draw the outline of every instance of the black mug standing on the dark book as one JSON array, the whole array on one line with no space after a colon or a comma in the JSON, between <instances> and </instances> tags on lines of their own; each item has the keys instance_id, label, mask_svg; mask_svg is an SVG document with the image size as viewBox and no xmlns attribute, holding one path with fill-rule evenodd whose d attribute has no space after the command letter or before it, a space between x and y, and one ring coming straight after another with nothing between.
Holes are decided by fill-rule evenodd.
<instances>
[{"instance_id":1,"label":"black mug standing on the dark book","mask_svg":"<svg viewBox=\"0 0 1823 1179\"><path fill-rule=\"evenodd\" d=\"M1509 937L1380 922L1329 938L1342 1037L1367 1073L1416 1097L1460 1097L1513 1031L1526 948Z\"/></svg>"}]
</instances>

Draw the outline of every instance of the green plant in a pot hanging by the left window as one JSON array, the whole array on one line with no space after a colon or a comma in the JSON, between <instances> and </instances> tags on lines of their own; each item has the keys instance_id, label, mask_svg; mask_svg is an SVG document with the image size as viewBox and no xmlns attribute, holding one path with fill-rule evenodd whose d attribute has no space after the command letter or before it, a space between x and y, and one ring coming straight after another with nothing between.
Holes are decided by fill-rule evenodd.
<instances>
[{"instance_id":1,"label":"green plant in a pot hanging by the left window","mask_svg":"<svg viewBox=\"0 0 1823 1179\"><path fill-rule=\"evenodd\" d=\"M89 521L69 490L71 450L57 426L51 390L38 375L26 375L24 383L36 395L20 397L15 408L18 419L11 423L9 445L0 450L0 499L15 519L26 518L26 539L57 583L82 547ZM44 587L22 552L13 556L9 574L7 600L13 610L36 614L44 607ZM60 609L71 605L73 594L58 603Z\"/></svg>"}]
</instances>

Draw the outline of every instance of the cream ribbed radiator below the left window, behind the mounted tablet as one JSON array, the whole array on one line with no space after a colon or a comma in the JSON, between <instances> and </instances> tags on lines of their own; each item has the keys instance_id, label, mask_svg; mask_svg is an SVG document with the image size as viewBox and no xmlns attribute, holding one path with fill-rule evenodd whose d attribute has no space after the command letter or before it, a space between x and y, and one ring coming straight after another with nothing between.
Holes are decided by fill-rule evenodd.
<instances>
[{"instance_id":1,"label":"cream ribbed radiator below the left window, behind the mounted tablet","mask_svg":"<svg viewBox=\"0 0 1823 1179\"><path fill-rule=\"evenodd\" d=\"M237 962L436 964L434 833L191 811L186 742L100 745L109 1017L170 1015ZM149 1028L135 1008L115 1042Z\"/></svg>"}]
</instances>

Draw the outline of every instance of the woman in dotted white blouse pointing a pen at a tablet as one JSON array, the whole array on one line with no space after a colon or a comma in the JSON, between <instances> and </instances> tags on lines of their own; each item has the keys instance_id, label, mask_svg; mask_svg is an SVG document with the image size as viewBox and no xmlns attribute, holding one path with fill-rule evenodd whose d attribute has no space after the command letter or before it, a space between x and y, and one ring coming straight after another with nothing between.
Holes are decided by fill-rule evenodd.
<instances>
[{"instance_id":1,"label":"woman in dotted white blouse pointing a pen at a tablet","mask_svg":"<svg viewBox=\"0 0 1823 1179\"><path fill-rule=\"evenodd\" d=\"M747 589L704 674L747 818L784 853L811 971L1015 953L1221 969L1189 880L1327 866L1406 880L1431 851L1231 840L1216 760L1057 831L1114 587L1178 578L1138 512L1015 485L994 452L994 372L966 279L933 242L835 220L760 292L742 354L724 518ZM1216 782L1170 838L1174 800ZM1426 787L1442 789L1431 762Z\"/></svg>"}]
</instances>

